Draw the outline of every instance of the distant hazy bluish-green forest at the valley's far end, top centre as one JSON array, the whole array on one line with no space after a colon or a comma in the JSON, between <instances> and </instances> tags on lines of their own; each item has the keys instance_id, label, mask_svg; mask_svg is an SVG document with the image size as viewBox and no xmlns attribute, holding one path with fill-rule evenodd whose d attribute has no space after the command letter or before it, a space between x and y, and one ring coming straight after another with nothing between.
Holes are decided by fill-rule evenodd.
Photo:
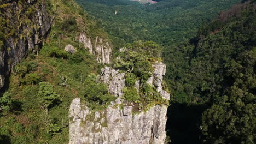
<instances>
[{"instance_id":1,"label":"distant hazy bluish-green forest at the valley's far end, top centre","mask_svg":"<svg viewBox=\"0 0 256 144\"><path fill-rule=\"evenodd\" d=\"M112 35L114 45L120 48L122 43L136 40L172 45L192 38L203 22L210 22L220 10L239 1L164 0L146 7L130 0L77 2L100 21L100 26Z\"/></svg>"}]
</instances>

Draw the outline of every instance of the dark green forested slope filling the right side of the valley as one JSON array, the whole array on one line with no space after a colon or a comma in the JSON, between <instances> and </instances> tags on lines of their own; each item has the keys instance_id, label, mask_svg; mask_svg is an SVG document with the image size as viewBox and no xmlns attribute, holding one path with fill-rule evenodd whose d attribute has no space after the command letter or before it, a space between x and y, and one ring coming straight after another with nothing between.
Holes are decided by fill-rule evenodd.
<instances>
[{"instance_id":1,"label":"dark green forested slope filling the right side of the valley","mask_svg":"<svg viewBox=\"0 0 256 144\"><path fill-rule=\"evenodd\" d=\"M202 26L196 39L164 54L176 105L209 107L194 108L195 116L203 113L201 120L190 117L207 143L255 141L256 13L253 4L242 6L236 16Z\"/></svg>"}]
</instances>

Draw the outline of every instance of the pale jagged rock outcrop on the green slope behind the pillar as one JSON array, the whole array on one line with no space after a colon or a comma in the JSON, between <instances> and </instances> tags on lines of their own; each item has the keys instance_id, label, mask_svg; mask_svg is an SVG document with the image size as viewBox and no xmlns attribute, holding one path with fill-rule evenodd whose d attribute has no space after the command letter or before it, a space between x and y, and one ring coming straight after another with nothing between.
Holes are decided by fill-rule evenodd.
<instances>
[{"instance_id":1,"label":"pale jagged rock outcrop on the green slope behind the pillar","mask_svg":"<svg viewBox=\"0 0 256 144\"><path fill-rule=\"evenodd\" d=\"M81 33L79 37L79 43L84 44L85 49L89 49L89 52L94 55L99 63L110 63L112 57L112 47L108 41L100 37L96 37L92 44L91 38L86 36L85 33Z\"/></svg>"}]
</instances>

